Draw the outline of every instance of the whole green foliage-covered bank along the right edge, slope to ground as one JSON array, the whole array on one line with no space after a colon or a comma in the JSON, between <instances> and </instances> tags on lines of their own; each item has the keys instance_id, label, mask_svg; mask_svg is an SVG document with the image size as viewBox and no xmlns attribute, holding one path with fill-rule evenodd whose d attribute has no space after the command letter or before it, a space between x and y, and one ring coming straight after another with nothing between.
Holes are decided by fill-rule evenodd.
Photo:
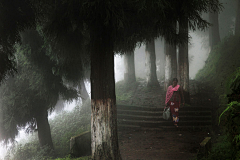
<instances>
[{"instance_id":1,"label":"whole green foliage-covered bank along the right edge, slope to ground","mask_svg":"<svg viewBox=\"0 0 240 160\"><path fill-rule=\"evenodd\" d=\"M236 36L225 39L210 53L208 63L198 73L198 80L212 84L216 93L224 95L228 101L219 116L219 124L223 125L223 132L226 135L224 140L218 138L219 141L215 144L208 159L240 159L239 40L240 37ZM236 70L236 67L239 68Z\"/></svg>"}]
</instances>

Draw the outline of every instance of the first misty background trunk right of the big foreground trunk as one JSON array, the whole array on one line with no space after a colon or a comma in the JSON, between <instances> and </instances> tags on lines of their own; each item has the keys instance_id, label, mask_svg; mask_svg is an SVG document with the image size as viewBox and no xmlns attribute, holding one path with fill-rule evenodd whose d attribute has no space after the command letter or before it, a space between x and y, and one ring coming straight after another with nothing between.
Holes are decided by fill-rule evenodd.
<instances>
[{"instance_id":1,"label":"first misty background trunk right of the big foreground trunk","mask_svg":"<svg viewBox=\"0 0 240 160\"><path fill-rule=\"evenodd\" d=\"M136 82L134 52L127 52L124 55L124 66L125 66L124 73L125 83Z\"/></svg>"}]
</instances>

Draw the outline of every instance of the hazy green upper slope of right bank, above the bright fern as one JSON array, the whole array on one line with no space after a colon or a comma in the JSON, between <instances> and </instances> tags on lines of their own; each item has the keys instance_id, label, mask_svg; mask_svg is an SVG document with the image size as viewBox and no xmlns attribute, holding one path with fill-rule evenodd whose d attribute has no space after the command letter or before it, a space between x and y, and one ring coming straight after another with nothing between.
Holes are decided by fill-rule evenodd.
<instances>
[{"instance_id":1,"label":"hazy green upper slope of right bank, above the bright fern","mask_svg":"<svg viewBox=\"0 0 240 160\"><path fill-rule=\"evenodd\" d=\"M217 95L226 97L231 92L229 81L240 67L240 37L226 37L209 54L205 66L196 74L196 80L213 86ZM226 100L226 99L225 99Z\"/></svg>"}]
</instances>

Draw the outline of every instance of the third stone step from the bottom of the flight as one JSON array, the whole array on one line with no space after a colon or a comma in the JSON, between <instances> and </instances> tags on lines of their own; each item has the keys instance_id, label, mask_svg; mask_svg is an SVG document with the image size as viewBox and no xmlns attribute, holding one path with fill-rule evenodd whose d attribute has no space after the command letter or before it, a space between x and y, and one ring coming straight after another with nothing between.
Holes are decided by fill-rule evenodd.
<instances>
[{"instance_id":1,"label":"third stone step from the bottom of the flight","mask_svg":"<svg viewBox=\"0 0 240 160\"><path fill-rule=\"evenodd\" d=\"M162 116L163 111L139 111L139 110L122 110L118 109L119 115L142 115L142 116ZM179 110L181 116L211 116L211 111L182 111Z\"/></svg>"}]
</instances>

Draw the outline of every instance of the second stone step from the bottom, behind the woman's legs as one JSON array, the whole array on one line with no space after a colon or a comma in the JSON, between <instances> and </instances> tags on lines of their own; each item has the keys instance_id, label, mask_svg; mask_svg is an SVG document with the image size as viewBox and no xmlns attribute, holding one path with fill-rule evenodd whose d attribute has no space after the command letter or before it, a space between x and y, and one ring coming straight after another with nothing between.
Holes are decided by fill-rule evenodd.
<instances>
[{"instance_id":1,"label":"second stone step from the bottom, behind the woman's legs","mask_svg":"<svg viewBox=\"0 0 240 160\"><path fill-rule=\"evenodd\" d=\"M118 119L127 119L127 120L145 120L145 121L160 121L164 120L162 115L161 116L144 116L144 115L127 115L127 114L118 114ZM179 116L182 121L187 120L198 120L198 121L211 121L211 116L188 116L183 115Z\"/></svg>"}]
</instances>

